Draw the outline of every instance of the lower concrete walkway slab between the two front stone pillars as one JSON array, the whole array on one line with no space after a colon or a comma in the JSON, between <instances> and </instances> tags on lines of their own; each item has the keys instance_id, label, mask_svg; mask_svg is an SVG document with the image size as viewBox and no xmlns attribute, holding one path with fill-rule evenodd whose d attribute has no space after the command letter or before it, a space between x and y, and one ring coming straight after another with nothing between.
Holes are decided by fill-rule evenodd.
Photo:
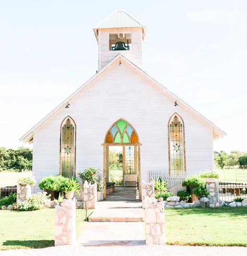
<instances>
[{"instance_id":1,"label":"lower concrete walkway slab between the two front stone pillars","mask_svg":"<svg viewBox=\"0 0 247 256\"><path fill-rule=\"evenodd\" d=\"M78 244L83 246L145 245L143 222L90 222L81 233Z\"/></svg>"}]
</instances>

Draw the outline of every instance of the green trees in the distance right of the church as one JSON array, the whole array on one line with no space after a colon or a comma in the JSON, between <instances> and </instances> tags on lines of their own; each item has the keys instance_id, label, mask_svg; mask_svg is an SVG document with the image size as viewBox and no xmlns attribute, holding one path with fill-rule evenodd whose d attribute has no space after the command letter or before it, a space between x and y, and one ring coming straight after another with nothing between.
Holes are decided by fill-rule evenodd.
<instances>
[{"instance_id":1,"label":"green trees in the distance right of the church","mask_svg":"<svg viewBox=\"0 0 247 256\"><path fill-rule=\"evenodd\" d=\"M231 151L230 154L224 150L215 151L215 165L217 168L224 169L225 167L238 167L241 169L247 169L247 153L238 150Z\"/></svg>"}]
</instances>

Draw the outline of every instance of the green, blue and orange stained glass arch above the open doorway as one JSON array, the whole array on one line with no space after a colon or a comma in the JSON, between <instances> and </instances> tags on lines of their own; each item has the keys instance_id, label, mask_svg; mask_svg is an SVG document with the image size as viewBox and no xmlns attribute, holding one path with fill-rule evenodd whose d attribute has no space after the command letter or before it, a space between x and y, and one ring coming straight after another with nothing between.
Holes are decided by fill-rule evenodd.
<instances>
[{"instance_id":1,"label":"green, blue and orange stained glass arch above the open doorway","mask_svg":"<svg viewBox=\"0 0 247 256\"><path fill-rule=\"evenodd\" d=\"M116 121L110 128L105 143L138 143L138 137L133 127L125 120Z\"/></svg>"}]
</instances>

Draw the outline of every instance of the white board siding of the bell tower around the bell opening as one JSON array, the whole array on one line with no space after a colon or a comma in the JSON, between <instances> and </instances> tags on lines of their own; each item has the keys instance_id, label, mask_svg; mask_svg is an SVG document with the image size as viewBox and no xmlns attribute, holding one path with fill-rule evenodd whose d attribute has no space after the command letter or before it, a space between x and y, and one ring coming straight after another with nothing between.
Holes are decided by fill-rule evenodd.
<instances>
[{"instance_id":1,"label":"white board siding of the bell tower around the bell opening","mask_svg":"<svg viewBox=\"0 0 247 256\"><path fill-rule=\"evenodd\" d=\"M124 32L132 34L130 51L109 51L109 33ZM99 70L111 62L118 54L122 54L136 66L142 68L142 28L99 29Z\"/></svg>"}]
</instances>

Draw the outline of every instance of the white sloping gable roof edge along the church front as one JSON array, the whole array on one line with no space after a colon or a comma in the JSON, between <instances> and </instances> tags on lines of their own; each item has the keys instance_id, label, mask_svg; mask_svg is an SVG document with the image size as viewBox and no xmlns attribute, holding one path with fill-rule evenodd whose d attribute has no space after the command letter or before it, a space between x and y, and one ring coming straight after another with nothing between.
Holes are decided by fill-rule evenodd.
<instances>
[{"instance_id":1,"label":"white sloping gable roof edge along the church front","mask_svg":"<svg viewBox=\"0 0 247 256\"><path fill-rule=\"evenodd\" d=\"M197 117L201 118L205 123L207 123L209 126L213 127L213 132L214 132L214 138L219 138L219 137L224 137L226 136L226 133L219 129L214 123L210 122L208 119L206 119L202 114L197 112L195 109L190 107L187 103L185 103L182 99L174 95L171 91L169 91L166 87L162 86L160 83L158 83L154 78L150 77L147 73L145 73L142 69L137 67L135 64L133 64L131 61L126 59L123 55L118 54L117 56L114 57L114 59L109 62L106 66L104 66L98 73L93 75L85 84L80 86L72 95L70 95L67 99L65 99L61 104L59 104L52 112L50 112L48 115L46 115L45 118L43 118L39 123L34 125L31 130L29 130L26 134L24 134L19 141L22 142L29 142L32 143L33 139L33 131L38 129L39 126L41 126L43 123L45 123L46 120L48 120L52 115L54 115L58 110L61 108L65 108L66 103L70 100L72 100L77 94L81 92L87 85L89 85L93 80L98 78L102 73L104 73L114 62L116 61L125 61L128 63L131 67L133 67L137 72L142 74L144 77L150 80L150 82L154 83L156 86L164 90L166 92L167 96L172 98L174 101L177 100L178 104L181 106L184 106L185 108L189 109L191 112L193 112Z\"/></svg>"}]
</instances>

